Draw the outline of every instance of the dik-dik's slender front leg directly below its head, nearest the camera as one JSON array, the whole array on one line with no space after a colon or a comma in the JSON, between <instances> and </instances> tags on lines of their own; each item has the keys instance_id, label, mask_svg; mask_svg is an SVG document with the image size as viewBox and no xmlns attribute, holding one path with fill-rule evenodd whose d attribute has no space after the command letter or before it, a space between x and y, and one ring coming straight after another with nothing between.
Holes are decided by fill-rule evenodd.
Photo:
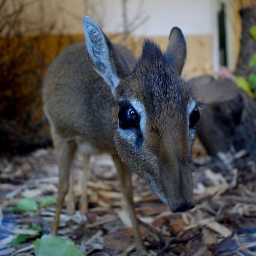
<instances>
[{"instance_id":1,"label":"dik-dik's slender front leg directly below its head, nearest the camera","mask_svg":"<svg viewBox=\"0 0 256 256\"><path fill-rule=\"evenodd\" d=\"M137 219L134 201L133 201L133 187L132 178L129 169L121 162L118 156L112 156L115 162L117 173L121 182L121 189L130 218L133 225L134 240L137 252L145 252L146 249L143 244L141 232L139 229L139 222Z\"/></svg>"}]
</instances>

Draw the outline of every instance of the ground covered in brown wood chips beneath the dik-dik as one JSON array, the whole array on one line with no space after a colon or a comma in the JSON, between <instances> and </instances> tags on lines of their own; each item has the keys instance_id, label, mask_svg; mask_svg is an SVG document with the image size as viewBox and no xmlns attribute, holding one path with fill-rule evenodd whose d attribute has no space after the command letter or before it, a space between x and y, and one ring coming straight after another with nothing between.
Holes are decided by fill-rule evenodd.
<instances>
[{"instance_id":1,"label":"ground covered in brown wood chips beneath the dik-dik","mask_svg":"<svg viewBox=\"0 0 256 256\"><path fill-rule=\"evenodd\" d=\"M91 159L87 216L78 210L81 156L74 168L77 210L68 215L65 203L58 235L72 240L84 255L136 254L111 158L101 155ZM233 156L222 154L219 159L194 158L192 168L197 207L183 214L170 213L147 184L133 176L147 255L255 255L255 162L242 151ZM34 198L40 204L48 196L57 196L56 156L49 149L26 157L2 158L0 169L0 255L33 255L34 239L15 247L10 242L18 234L32 232L31 226L42 228L39 236L49 233L55 205L24 212L10 207L22 198Z\"/></svg>"}]
</instances>

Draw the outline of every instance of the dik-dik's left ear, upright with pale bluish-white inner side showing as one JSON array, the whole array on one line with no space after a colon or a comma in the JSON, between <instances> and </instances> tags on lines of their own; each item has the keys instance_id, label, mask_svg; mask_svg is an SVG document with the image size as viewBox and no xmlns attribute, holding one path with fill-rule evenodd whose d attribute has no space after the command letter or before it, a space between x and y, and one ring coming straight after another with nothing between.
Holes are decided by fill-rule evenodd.
<instances>
[{"instance_id":1,"label":"dik-dik's left ear, upright with pale bluish-white inner side showing","mask_svg":"<svg viewBox=\"0 0 256 256\"><path fill-rule=\"evenodd\" d=\"M83 17L83 29L90 61L114 93L120 79L130 73L129 66L99 26L88 16Z\"/></svg>"}]
</instances>

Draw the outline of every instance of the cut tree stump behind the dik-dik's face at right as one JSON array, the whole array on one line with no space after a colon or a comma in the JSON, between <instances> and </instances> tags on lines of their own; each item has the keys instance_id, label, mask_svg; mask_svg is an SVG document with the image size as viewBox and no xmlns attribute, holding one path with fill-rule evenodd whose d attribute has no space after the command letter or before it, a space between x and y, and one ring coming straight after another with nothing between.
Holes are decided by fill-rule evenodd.
<instances>
[{"instance_id":1,"label":"cut tree stump behind the dik-dik's face at right","mask_svg":"<svg viewBox=\"0 0 256 256\"><path fill-rule=\"evenodd\" d=\"M199 100L206 103L197 135L208 154L217 156L218 152L246 148L251 156L256 156L255 101L229 79L201 76L189 83Z\"/></svg>"}]
</instances>

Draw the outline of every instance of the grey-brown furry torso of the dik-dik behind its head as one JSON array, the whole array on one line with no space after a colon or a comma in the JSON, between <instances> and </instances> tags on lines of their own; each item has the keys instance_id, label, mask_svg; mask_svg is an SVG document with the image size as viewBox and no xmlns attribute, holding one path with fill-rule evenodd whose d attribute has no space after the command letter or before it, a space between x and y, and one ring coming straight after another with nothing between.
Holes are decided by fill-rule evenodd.
<instances>
[{"instance_id":1,"label":"grey-brown furry torso of the dik-dik behind its head","mask_svg":"<svg viewBox=\"0 0 256 256\"><path fill-rule=\"evenodd\" d=\"M132 70L136 59L121 45L115 46ZM93 69L86 44L78 42L63 50L48 68L42 96L52 135L78 138L103 151L113 151L111 110L114 97Z\"/></svg>"}]
</instances>

